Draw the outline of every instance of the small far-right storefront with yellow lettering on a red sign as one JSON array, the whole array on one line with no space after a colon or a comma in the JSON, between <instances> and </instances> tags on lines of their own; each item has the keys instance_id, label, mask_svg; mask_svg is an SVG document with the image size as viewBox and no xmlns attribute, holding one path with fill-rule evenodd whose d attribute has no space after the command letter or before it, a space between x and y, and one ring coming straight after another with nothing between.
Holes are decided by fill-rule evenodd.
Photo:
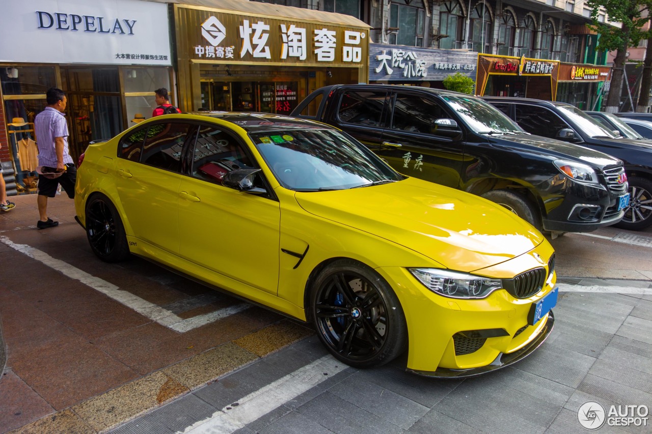
<instances>
[{"instance_id":1,"label":"small far-right storefront with yellow lettering on a red sign","mask_svg":"<svg viewBox=\"0 0 652 434\"><path fill-rule=\"evenodd\" d=\"M582 110L599 110L604 83L609 80L610 66L561 63L557 101L568 102Z\"/></svg>"}]
</instances>

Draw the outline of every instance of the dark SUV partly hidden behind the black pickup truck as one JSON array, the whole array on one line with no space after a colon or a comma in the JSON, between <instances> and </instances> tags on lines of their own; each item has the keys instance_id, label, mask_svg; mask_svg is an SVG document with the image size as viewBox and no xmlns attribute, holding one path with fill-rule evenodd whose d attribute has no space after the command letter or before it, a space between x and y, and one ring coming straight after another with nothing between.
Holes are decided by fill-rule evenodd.
<instances>
[{"instance_id":1,"label":"dark SUV partly hidden behind the black pickup truck","mask_svg":"<svg viewBox=\"0 0 652 434\"><path fill-rule=\"evenodd\" d=\"M629 180L630 202L614 226L637 231L652 225L652 145L605 128L584 111L564 102L484 96L531 134L555 137L620 158Z\"/></svg>"}]
</instances>

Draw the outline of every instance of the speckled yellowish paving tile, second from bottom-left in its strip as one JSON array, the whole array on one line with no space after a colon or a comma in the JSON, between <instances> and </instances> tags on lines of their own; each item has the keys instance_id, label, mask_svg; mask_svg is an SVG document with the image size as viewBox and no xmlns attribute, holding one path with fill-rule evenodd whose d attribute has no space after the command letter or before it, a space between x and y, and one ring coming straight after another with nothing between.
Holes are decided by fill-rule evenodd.
<instances>
[{"instance_id":1,"label":"speckled yellowish paving tile, second from bottom-left in its strip","mask_svg":"<svg viewBox=\"0 0 652 434\"><path fill-rule=\"evenodd\" d=\"M96 431L109 429L188 392L161 371L72 407Z\"/></svg>"}]
</instances>

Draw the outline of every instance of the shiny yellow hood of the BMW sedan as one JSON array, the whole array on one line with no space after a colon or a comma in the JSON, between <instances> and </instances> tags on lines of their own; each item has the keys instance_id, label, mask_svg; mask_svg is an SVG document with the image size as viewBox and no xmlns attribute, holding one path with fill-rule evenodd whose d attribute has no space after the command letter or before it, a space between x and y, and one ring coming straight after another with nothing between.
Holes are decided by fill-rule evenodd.
<instances>
[{"instance_id":1,"label":"shiny yellow hood of the BMW sedan","mask_svg":"<svg viewBox=\"0 0 652 434\"><path fill-rule=\"evenodd\" d=\"M351 190L297 192L295 198L311 214L460 271L507 261L543 240L537 229L499 205L416 178Z\"/></svg>"}]
</instances>

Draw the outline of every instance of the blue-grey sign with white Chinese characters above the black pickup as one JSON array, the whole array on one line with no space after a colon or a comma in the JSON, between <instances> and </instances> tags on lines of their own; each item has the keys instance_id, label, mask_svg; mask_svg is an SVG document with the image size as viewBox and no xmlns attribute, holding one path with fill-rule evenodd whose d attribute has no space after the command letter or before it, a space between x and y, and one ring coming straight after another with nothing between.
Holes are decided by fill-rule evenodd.
<instances>
[{"instance_id":1,"label":"blue-grey sign with white Chinese characters above the black pickup","mask_svg":"<svg viewBox=\"0 0 652 434\"><path fill-rule=\"evenodd\" d=\"M471 51L369 44L369 82L443 89L456 72L475 80L476 61Z\"/></svg>"}]
</instances>

